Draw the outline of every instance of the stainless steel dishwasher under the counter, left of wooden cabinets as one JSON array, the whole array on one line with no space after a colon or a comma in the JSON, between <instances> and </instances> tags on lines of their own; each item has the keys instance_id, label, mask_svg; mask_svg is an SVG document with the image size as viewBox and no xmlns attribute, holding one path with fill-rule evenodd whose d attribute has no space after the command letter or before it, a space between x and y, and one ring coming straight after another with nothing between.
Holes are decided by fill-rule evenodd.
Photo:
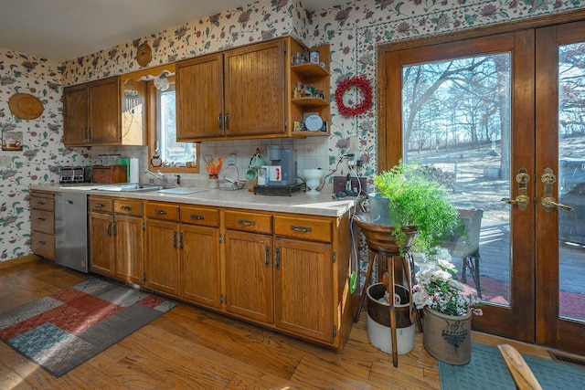
<instances>
[{"instance_id":1,"label":"stainless steel dishwasher under the counter, left of wooden cabinets","mask_svg":"<svg viewBox=\"0 0 585 390\"><path fill-rule=\"evenodd\" d=\"M55 262L87 273L88 196L58 193L55 199Z\"/></svg>"}]
</instances>

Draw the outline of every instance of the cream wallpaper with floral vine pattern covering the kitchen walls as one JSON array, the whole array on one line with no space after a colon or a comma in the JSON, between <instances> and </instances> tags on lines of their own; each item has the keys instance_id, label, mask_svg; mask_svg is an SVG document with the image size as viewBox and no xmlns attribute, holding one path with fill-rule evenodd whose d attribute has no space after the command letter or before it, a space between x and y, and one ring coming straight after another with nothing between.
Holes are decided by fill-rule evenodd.
<instances>
[{"instance_id":1,"label":"cream wallpaper with floral vine pattern covering the kitchen walls","mask_svg":"<svg viewBox=\"0 0 585 390\"><path fill-rule=\"evenodd\" d=\"M366 75L372 87L376 86L376 48L380 44L583 7L585 2L579 0L357 0L309 15L298 0L260 0L62 64L0 48L0 128L24 134L22 152L0 151L0 156L8 155L11 160L9 167L0 166L0 259L30 253L27 185L55 180L58 165L83 162L82 151L62 145L61 86L140 69L134 56L144 41L153 47L149 64L153 67L288 34L308 46L329 43L333 95L341 80L354 75ZM45 111L39 119L20 121L11 115L7 100L17 90L43 101ZM350 105L356 97L348 99ZM356 136L366 163L361 174L375 174L376 110L344 119L333 101L331 125L330 166L335 166L350 138ZM299 159L304 157L297 154Z\"/></svg>"}]
</instances>

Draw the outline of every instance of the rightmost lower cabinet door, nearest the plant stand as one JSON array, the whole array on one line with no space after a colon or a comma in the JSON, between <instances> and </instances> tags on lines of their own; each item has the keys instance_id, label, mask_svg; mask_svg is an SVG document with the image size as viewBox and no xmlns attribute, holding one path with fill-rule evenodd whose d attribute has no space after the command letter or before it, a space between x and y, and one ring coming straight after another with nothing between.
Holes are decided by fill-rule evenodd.
<instances>
[{"instance_id":1,"label":"rightmost lower cabinet door, nearest the plant stand","mask_svg":"<svg viewBox=\"0 0 585 390\"><path fill-rule=\"evenodd\" d=\"M275 238L274 251L276 326L333 343L331 244Z\"/></svg>"}]
</instances>

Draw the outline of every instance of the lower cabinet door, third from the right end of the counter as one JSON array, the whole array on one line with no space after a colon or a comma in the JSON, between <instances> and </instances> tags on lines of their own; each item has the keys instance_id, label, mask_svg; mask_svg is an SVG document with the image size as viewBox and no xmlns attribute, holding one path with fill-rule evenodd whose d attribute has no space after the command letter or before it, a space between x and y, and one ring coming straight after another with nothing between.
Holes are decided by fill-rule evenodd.
<instances>
[{"instance_id":1,"label":"lower cabinet door, third from the right end of the counter","mask_svg":"<svg viewBox=\"0 0 585 390\"><path fill-rule=\"evenodd\" d=\"M219 229L183 224L179 248L181 298L219 308Z\"/></svg>"}]
</instances>

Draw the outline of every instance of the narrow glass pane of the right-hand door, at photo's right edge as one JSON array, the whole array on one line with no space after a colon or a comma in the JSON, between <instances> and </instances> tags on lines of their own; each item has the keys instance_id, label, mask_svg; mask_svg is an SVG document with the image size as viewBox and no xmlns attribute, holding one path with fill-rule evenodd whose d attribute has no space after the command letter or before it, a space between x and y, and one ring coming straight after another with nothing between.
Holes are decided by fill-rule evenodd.
<instances>
[{"instance_id":1,"label":"narrow glass pane of the right-hand door, at photo's right edge","mask_svg":"<svg viewBox=\"0 0 585 390\"><path fill-rule=\"evenodd\" d=\"M559 314L585 320L585 44L558 54Z\"/></svg>"}]
</instances>

